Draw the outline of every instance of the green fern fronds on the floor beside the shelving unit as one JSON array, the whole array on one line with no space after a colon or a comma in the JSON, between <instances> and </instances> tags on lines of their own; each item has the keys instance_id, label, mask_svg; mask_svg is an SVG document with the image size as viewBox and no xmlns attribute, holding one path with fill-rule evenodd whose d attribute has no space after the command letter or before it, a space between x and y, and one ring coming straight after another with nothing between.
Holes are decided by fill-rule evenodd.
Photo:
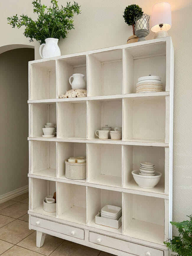
<instances>
[{"instance_id":1,"label":"green fern fronds on the floor beside the shelving unit","mask_svg":"<svg viewBox=\"0 0 192 256\"><path fill-rule=\"evenodd\" d=\"M179 231L179 236L173 236L173 239L168 239L164 244L176 252L178 256L192 256L192 215L190 219L182 222L170 222Z\"/></svg>"}]
</instances>

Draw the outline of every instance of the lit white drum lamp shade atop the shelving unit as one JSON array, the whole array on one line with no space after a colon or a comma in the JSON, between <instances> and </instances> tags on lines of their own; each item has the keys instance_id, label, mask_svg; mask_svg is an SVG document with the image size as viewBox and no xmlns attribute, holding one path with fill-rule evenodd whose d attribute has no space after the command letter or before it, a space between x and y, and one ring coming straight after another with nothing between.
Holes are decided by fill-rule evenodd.
<instances>
[{"instance_id":1,"label":"lit white drum lamp shade atop the shelving unit","mask_svg":"<svg viewBox=\"0 0 192 256\"><path fill-rule=\"evenodd\" d=\"M171 5L167 2L161 2L152 6L151 31L158 32L159 24L163 24L162 30L171 28Z\"/></svg>"}]
</instances>

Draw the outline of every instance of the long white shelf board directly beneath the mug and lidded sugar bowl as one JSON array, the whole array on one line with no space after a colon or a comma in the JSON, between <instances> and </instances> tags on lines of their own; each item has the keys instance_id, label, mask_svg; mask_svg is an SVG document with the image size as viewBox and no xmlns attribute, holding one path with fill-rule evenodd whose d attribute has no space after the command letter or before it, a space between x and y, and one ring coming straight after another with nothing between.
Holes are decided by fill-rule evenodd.
<instances>
[{"instance_id":1,"label":"long white shelf board directly beneath the mug and lidded sugar bowl","mask_svg":"<svg viewBox=\"0 0 192 256\"><path fill-rule=\"evenodd\" d=\"M136 146L154 146L154 147L169 147L168 142L149 142L149 141L138 141L138 140L89 140L80 139L76 137L71 138L43 138L43 137L28 137L28 140L40 140L40 141L56 141L56 142L79 142L79 143L101 143L101 144L119 144L119 145L136 145Z\"/></svg>"}]
</instances>

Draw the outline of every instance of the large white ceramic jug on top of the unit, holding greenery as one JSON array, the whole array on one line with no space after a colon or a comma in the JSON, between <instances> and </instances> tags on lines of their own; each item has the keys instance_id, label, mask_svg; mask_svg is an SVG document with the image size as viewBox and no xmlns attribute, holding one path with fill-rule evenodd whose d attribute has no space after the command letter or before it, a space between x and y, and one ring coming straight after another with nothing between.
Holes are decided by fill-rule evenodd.
<instances>
[{"instance_id":1,"label":"large white ceramic jug on top of the unit, holding greenery","mask_svg":"<svg viewBox=\"0 0 192 256\"><path fill-rule=\"evenodd\" d=\"M46 38L45 43L40 45L39 53L42 59L61 56L61 51L58 47L58 39Z\"/></svg>"}]
</instances>

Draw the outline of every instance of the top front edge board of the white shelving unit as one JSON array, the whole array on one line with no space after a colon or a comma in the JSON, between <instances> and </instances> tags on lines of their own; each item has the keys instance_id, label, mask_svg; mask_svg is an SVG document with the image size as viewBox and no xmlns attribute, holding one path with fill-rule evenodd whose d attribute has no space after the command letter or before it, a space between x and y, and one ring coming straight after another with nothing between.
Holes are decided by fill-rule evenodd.
<instances>
[{"instance_id":1,"label":"top front edge board of the white shelving unit","mask_svg":"<svg viewBox=\"0 0 192 256\"><path fill-rule=\"evenodd\" d=\"M40 62L46 62L46 61L54 61L54 60L62 60L66 58L71 58L71 57L76 57L76 56L82 56L82 55L89 55L89 54L95 54L95 53L100 53L104 51L113 51L113 50L118 50L118 49L128 49L131 48L131 53L135 55L135 57L138 55L138 51L135 50L134 48L138 48L139 46L145 46L145 45L152 45L152 44L165 44L165 43L171 43L171 37L167 36L164 38L157 38L157 39L152 39L152 40L146 40L146 41L141 41L141 42L136 42L136 43L129 43L129 44L124 44L120 46L112 46L108 48L102 48L102 49L97 49L97 50L91 50L91 51L85 51L81 53L75 53L75 54L68 54L68 55L63 55L63 56L57 56L57 57L52 57L52 58L47 58L47 59L39 59L39 60L34 60L34 61L29 61L29 64L35 64L35 63L40 63ZM158 46L158 48L159 48ZM162 47L159 48L159 51L161 53ZM138 55L139 56L139 55Z\"/></svg>"}]
</instances>

